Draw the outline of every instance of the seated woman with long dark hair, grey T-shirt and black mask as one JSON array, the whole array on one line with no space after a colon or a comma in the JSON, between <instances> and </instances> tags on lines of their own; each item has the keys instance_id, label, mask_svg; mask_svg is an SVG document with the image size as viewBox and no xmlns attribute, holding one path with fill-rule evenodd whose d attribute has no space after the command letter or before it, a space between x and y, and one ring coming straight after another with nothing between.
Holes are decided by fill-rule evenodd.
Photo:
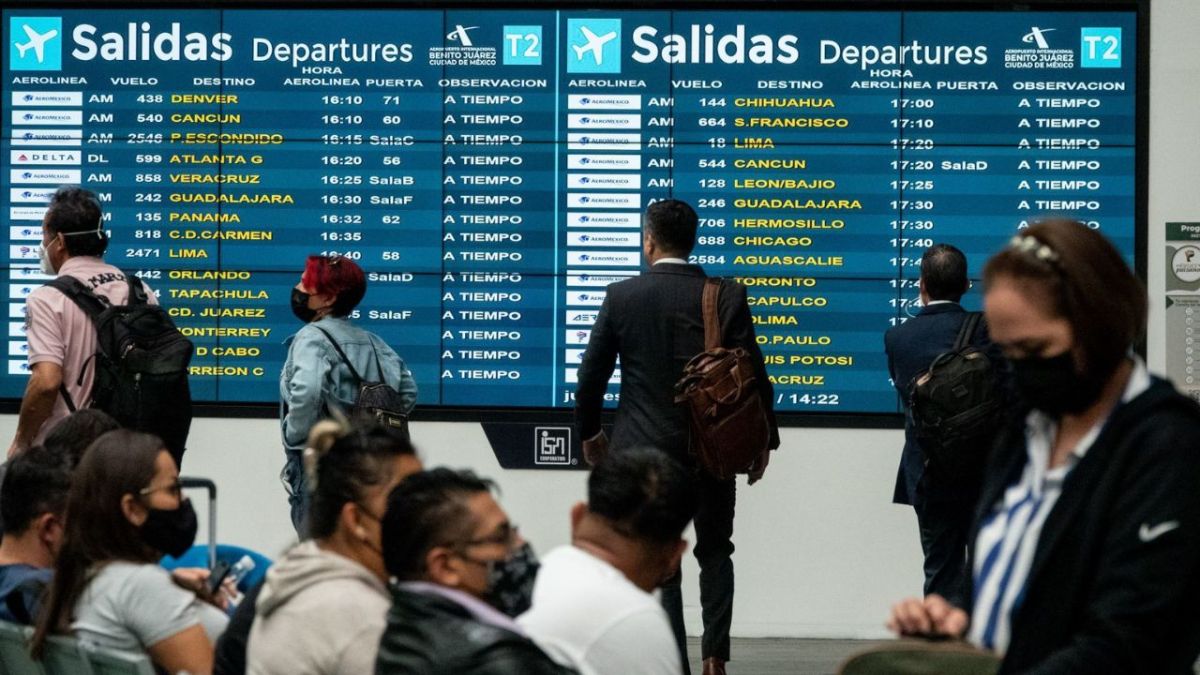
<instances>
[{"instance_id":1,"label":"seated woman with long dark hair, grey T-shirt and black mask","mask_svg":"<svg viewBox=\"0 0 1200 675\"><path fill-rule=\"evenodd\" d=\"M52 633L71 632L102 647L145 651L168 673L210 673L212 641L228 620L158 566L194 539L196 512L162 441L125 430L97 438L71 478L34 655Z\"/></svg>"}]
</instances>

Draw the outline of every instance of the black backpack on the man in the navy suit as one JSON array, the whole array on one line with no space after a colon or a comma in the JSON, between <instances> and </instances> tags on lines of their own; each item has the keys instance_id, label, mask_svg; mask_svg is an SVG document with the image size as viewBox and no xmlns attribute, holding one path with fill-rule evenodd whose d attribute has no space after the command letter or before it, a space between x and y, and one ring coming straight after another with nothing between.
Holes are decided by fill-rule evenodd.
<instances>
[{"instance_id":1,"label":"black backpack on the man in the navy suit","mask_svg":"<svg viewBox=\"0 0 1200 675\"><path fill-rule=\"evenodd\" d=\"M946 478L983 465L1003 422L996 364L971 342L983 315L962 321L954 347L938 354L908 384L908 414L928 466Z\"/></svg>"}]
</instances>

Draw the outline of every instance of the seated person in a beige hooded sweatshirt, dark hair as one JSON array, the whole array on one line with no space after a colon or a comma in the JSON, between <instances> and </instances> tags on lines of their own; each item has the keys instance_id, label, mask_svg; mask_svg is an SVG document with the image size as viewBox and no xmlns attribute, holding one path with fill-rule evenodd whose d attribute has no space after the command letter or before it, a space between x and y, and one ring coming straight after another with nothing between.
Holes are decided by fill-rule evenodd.
<instances>
[{"instance_id":1,"label":"seated person in a beige hooded sweatshirt, dark hair","mask_svg":"<svg viewBox=\"0 0 1200 675\"><path fill-rule=\"evenodd\" d=\"M398 434L336 422L312 429L305 461L312 539L266 573L254 601L246 671L371 673L391 599L383 513L391 489L421 462Z\"/></svg>"}]
</instances>

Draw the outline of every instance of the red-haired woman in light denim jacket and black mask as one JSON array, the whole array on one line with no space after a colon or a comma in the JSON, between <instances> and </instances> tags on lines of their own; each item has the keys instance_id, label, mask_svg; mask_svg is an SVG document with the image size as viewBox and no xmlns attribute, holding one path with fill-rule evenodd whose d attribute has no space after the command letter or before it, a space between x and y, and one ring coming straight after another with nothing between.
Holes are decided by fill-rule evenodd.
<instances>
[{"instance_id":1,"label":"red-haired woman in light denim jacket and black mask","mask_svg":"<svg viewBox=\"0 0 1200 675\"><path fill-rule=\"evenodd\" d=\"M391 386L409 410L416 402L416 382L404 362L378 335L350 322L366 289L362 268L341 256L308 256L292 289L292 311L305 325L288 338L288 358L280 374L287 455L280 478L292 504L292 524L301 537L306 490L300 454L317 420L353 407L361 383L354 374Z\"/></svg>"}]
</instances>

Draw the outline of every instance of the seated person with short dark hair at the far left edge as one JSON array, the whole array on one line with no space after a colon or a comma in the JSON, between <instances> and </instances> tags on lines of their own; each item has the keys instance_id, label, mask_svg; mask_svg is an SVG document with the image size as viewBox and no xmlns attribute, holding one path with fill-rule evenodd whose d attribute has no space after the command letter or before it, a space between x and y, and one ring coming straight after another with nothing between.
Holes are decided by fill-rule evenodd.
<instances>
[{"instance_id":1,"label":"seated person with short dark hair at the far left edge","mask_svg":"<svg viewBox=\"0 0 1200 675\"><path fill-rule=\"evenodd\" d=\"M35 446L8 462L0 513L0 621L31 625L54 575L71 474L62 455Z\"/></svg>"}]
</instances>

